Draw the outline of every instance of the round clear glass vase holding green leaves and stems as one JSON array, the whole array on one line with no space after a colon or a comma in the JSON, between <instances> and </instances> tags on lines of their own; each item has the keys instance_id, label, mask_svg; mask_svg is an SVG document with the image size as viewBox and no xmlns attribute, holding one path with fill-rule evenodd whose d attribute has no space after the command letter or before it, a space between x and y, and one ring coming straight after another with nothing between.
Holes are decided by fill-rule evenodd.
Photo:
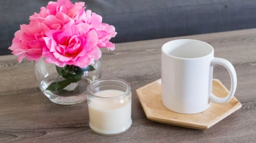
<instances>
[{"instance_id":1,"label":"round clear glass vase holding green leaves and stems","mask_svg":"<svg viewBox=\"0 0 256 143\"><path fill-rule=\"evenodd\" d=\"M79 73L74 67L69 66L69 69L56 67L55 64L44 62L43 58L34 62L36 82L52 102L60 105L81 103L87 98L87 86L101 78L102 64L100 59L86 68L77 67L80 70ZM65 76L66 73L70 76ZM72 80L72 77L75 80ZM79 78L77 79L77 77Z\"/></svg>"}]
</instances>

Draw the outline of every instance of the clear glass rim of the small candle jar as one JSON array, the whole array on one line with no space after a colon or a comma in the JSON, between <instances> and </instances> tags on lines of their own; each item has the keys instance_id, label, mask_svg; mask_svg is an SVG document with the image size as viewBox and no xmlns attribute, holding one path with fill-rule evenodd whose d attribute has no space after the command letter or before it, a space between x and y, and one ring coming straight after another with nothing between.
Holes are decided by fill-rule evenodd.
<instances>
[{"instance_id":1,"label":"clear glass rim of the small candle jar","mask_svg":"<svg viewBox=\"0 0 256 143\"><path fill-rule=\"evenodd\" d=\"M127 86L127 89L126 91L119 95L119 96L114 96L114 97L100 97L100 96L96 96L95 94L93 94L90 89L92 88L93 85L95 84L98 84L98 83L103 83L103 82L106 82L106 81L117 81L119 83L122 83L122 84L125 84ZM123 96L126 96L131 90L131 86L129 83L127 83L127 81L125 80L122 80L122 79L117 79L117 78L104 78L104 79L99 79L99 80L96 80L96 81L93 81L92 83L90 83L87 87L87 92L88 94L90 94L91 96L93 97L97 97L97 98L101 98L101 99L116 99L116 98L120 98L120 97L123 97Z\"/></svg>"}]
</instances>

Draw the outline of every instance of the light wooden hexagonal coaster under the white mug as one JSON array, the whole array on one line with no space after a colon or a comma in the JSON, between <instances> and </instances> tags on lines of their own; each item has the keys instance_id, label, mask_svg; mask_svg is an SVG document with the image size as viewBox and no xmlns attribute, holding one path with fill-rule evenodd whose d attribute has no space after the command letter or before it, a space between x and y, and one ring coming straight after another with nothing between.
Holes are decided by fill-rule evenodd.
<instances>
[{"instance_id":1,"label":"light wooden hexagonal coaster under the white mug","mask_svg":"<svg viewBox=\"0 0 256 143\"><path fill-rule=\"evenodd\" d=\"M197 114L179 114L163 106L161 86L161 79L159 79L136 90L147 118L154 122L204 130L242 107L236 97L233 97L225 104L211 103L207 110ZM225 97L229 90L220 80L213 79L212 93L217 97Z\"/></svg>"}]
</instances>

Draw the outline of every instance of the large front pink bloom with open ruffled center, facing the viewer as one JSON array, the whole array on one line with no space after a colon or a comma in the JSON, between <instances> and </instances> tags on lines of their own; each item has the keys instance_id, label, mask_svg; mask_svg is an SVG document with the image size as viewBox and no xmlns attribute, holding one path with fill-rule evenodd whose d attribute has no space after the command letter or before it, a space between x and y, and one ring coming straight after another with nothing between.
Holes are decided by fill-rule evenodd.
<instances>
[{"instance_id":1,"label":"large front pink bloom with open ruffled center, facing the viewer","mask_svg":"<svg viewBox=\"0 0 256 143\"><path fill-rule=\"evenodd\" d=\"M68 64L84 68L101 57L97 33L90 31L86 23L71 25L65 31L48 31L44 41L47 45L43 49L46 63L54 63L59 67Z\"/></svg>"}]
</instances>

